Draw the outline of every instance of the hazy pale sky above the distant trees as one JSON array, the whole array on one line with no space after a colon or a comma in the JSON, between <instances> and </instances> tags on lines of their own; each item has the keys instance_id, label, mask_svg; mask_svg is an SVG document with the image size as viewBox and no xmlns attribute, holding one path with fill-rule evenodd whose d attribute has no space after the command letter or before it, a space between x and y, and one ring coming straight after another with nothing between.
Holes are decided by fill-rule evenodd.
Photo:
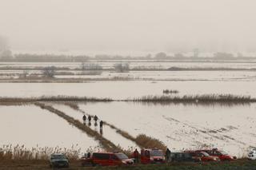
<instances>
[{"instance_id":1,"label":"hazy pale sky above the distant trees","mask_svg":"<svg viewBox=\"0 0 256 170\"><path fill-rule=\"evenodd\" d=\"M255 0L0 0L12 49L256 52Z\"/></svg>"}]
</instances>

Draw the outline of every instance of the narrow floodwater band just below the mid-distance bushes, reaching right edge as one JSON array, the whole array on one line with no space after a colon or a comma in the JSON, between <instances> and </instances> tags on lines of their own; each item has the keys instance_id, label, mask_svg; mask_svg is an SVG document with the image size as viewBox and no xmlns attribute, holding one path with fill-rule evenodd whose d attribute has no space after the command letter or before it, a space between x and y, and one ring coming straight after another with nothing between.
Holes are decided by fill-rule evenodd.
<instances>
[{"instance_id":1,"label":"narrow floodwater band just below the mid-distance bushes, reaching right edge","mask_svg":"<svg viewBox=\"0 0 256 170\"><path fill-rule=\"evenodd\" d=\"M92 81L123 78L150 81L256 81L255 71L104 71L98 75L56 75L56 78L87 78Z\"/></svg>"}]
</instances>

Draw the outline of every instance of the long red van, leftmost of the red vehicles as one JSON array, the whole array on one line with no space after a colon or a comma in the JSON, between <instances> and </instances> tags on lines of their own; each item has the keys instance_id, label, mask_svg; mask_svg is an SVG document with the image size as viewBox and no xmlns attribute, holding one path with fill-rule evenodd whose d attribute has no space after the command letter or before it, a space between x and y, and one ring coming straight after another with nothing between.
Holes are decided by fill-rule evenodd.
<instances>
[{"instance_id":1,"label":"long red van, leftmost of the red vehicles","mask_svg":"<svg viewBox=\"0 0 256 170\"><path fill-rule=\"evenodd\" d=\"M90 158L82 158L82 166L114 166L132 164L134 164L134 160L129 159L122 152L94 152Z\"/></svg>"}]
</instances>

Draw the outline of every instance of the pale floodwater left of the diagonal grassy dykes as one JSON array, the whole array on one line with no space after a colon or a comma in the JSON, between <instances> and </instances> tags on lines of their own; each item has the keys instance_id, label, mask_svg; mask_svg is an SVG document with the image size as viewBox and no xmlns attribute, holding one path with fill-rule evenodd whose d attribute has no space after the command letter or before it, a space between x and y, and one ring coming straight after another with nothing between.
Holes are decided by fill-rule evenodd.
<instances>
[{"instance_id":1,"label":"pale floodwater left of the diagonal grassy dykes","mask_svg":"<svg viewBox=\"0 0 256 170\"><path fill-rule=\"evenodd\" d=\"M98 143L53 113L34 105L0 106L0 145L25 144L27 148L87 148Z\"/></svg>"}]
</instances>

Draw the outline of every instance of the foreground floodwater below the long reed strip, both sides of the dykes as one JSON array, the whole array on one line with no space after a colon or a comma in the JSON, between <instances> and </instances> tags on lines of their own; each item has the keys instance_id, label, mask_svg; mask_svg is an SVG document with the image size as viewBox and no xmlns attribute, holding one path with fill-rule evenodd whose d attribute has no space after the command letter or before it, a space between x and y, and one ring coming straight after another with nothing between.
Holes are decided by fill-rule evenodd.
<instances>
[{"instance_id":1,"label":"foreground floodwater below the long reed strip, both sides of the dykes","mask_svg":"<svg viewBox=\"0 0 256 170\"><path fill-rule=\"evenodd\" d=\"M194 105L194 104L144 104L136 102L43 102L44 105L65 113L83 124L83 113L97 115L130 136L145 134L161 140L172 151L197 148L222 148L238 157L246 156L255 147L256 104L247 105ZM76 106L72 108L70 106ZM26 147L87 148L102 145L94 136L88 136L78 127L69 125L62 117L47 109L30 105L2 105L1 144L25 144ZM134 140L127 139L117 129L86 122L85 127L126 150L140 148ZM6 129L8 127L8 129Z\"/></svg>"}]
</instances>

